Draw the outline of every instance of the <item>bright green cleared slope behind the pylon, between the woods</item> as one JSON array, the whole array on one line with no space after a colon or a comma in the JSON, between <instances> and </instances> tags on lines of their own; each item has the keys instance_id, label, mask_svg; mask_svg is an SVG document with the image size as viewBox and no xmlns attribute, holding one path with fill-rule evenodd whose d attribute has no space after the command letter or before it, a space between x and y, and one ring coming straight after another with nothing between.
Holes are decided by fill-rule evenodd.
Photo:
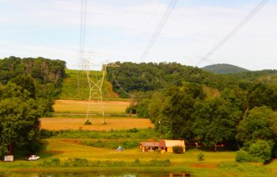
<instances>
[{"instance_id":1,"label":"bright green cleared slope behind the pylon, between the woods","mask_svg":"<svg viewBox=\"0 0 277 177\"><path fill-rule=\"evenodd\" d=\"M78 88L78 70L66 69L66 77L62 83L62 92L60 99L88 99L89 83L85 71L79 71L79 88ZM97 81L101 77L101 71L91 71L91 79ZM116 99L118 94L113 92L111 83L105 79L102 88L104 99Z\"/></svg>"}]
</instances>

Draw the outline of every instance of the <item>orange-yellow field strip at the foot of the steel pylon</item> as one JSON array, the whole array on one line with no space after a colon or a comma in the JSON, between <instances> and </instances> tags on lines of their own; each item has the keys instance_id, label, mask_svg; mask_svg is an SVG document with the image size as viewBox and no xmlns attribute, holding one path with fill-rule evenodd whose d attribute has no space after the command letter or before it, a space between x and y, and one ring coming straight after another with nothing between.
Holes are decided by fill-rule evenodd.
<instances>
[{"instance_id":1,"label":"orange-yellow field strip at the foot of the steel pylon","mask_svg":"<svg viewBox=\"0 0 277 177\"><path fill-rule=\"evenodd\" d=\"M42 118L41 128L47 130L123 130L130 128L148 128L154 127L149 119L139 118L127 118L127 117L116 117L105 118L107 124L102 124L102 118L91 118L89 119L92 124L84 126L85 118Z\"/></svg>"}]
</instances>

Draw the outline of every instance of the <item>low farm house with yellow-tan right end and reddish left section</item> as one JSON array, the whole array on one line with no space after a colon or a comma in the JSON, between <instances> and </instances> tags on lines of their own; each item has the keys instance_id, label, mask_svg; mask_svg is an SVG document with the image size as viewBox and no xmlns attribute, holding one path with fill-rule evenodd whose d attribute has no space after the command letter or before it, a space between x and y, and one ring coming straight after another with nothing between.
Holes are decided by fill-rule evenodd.
<instances>
[{"instance_id":1,"label":"low farm house with yellow-tan right end and reddish left section","mask_svg":"<svg viewBox=\"0 0 277 177\"><path fill-rule=\"evenodd\" d=\"M181 146L184 151L186 151L186 145L184 140L161 140L159 142L141 142L141 151L151 152L157 151L158 149L161 152L173 152L173 146Z\"/></svg>"}]
</instances>

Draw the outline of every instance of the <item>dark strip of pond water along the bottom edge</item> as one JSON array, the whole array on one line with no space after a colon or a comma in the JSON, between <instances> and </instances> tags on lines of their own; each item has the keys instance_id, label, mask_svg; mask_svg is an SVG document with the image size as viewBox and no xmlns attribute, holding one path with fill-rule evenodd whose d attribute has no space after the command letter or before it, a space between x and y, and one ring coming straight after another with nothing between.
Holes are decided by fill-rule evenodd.
<instances>
[{"instance_id":1,"label":"dark strip of pond water along the bottom edge","mask_svg":"<svg viewBox=\"0 0 277 177\"><path fill-rule=\"evenodd\" d=\"M0 173L2 177L187 177L190 174L172 173L93 173L93 172L6 172Z\"/></svg>"}]
</instances>

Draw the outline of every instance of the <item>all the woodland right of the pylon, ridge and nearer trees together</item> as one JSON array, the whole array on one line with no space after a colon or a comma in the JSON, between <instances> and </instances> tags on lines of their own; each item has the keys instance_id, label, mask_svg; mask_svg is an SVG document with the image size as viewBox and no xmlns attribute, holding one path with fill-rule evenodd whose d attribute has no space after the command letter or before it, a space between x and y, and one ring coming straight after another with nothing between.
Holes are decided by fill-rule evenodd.
<instances>
[{"instance_id":1,"label":"all the woodland right of the pylon, ridge and nearer trees together","mask_svg":"<svg viewBox=\"0 0 277 177\"><path fill-rule=\"evenodd\" d=\"M267 151L266 158L246 161L276 157L275 70L222 75L177 63L117 64L120 67L108 71L114 90L121 96L144 93L126 111L150 118L164 138L197 141L215 149L217 144L243 148L243 154L257 148ZM151 94L145 94L148 91Z\"/></svg>"}]
</instances>

